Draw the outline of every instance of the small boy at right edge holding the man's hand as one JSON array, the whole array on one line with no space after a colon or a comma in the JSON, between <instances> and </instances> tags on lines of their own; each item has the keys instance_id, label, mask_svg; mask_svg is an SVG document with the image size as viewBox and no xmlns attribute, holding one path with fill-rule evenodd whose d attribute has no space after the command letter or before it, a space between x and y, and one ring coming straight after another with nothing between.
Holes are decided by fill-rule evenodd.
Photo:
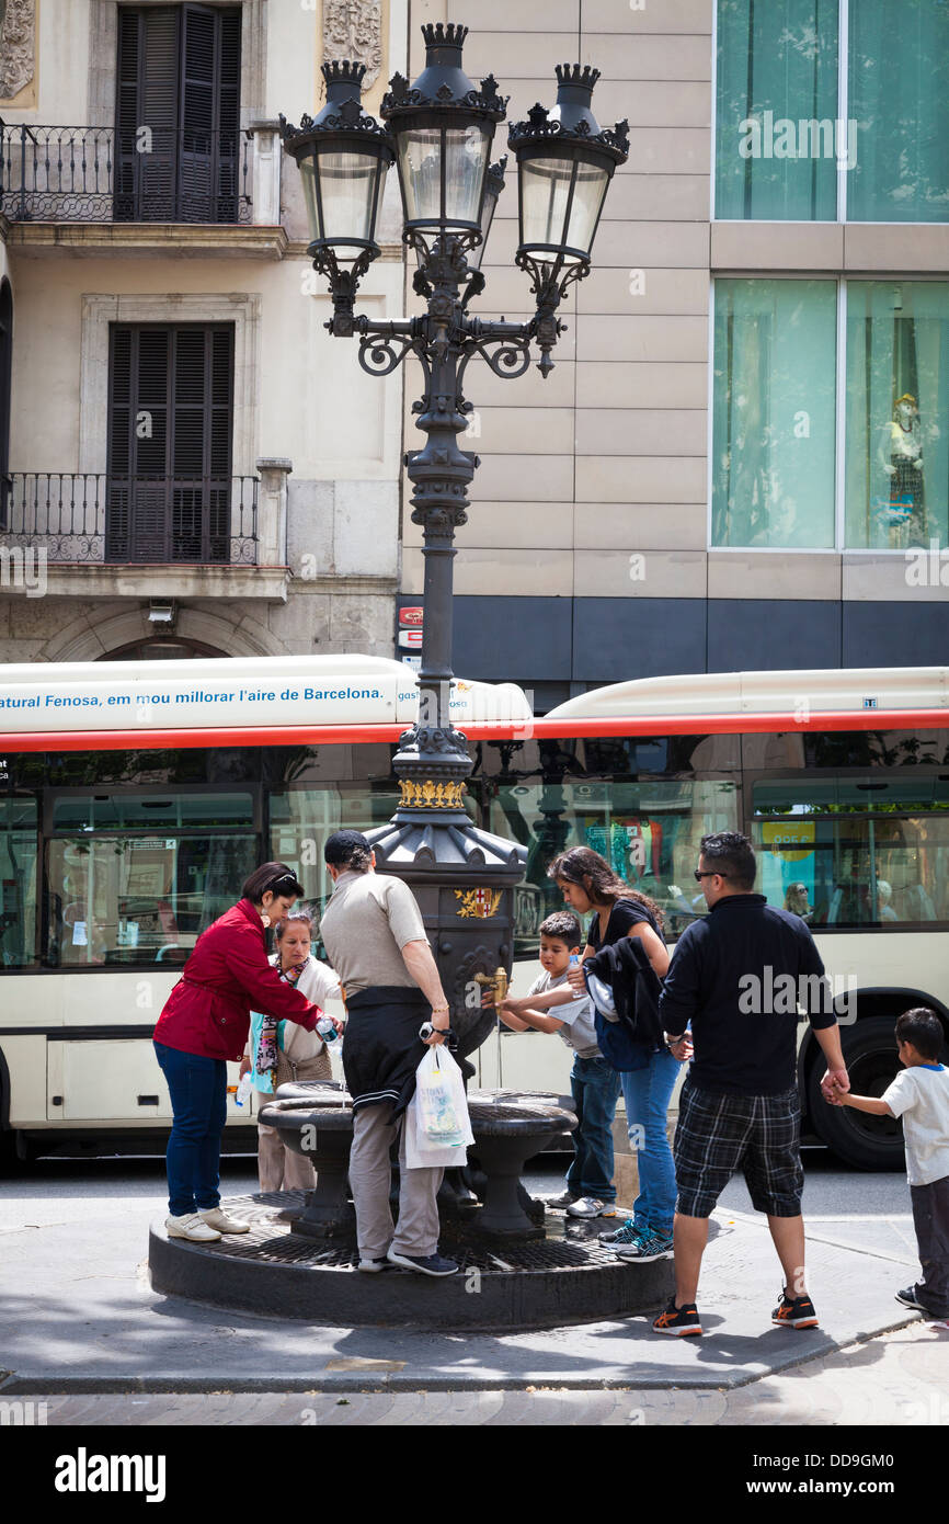
<instances>
[{"instance_id":1,"label":"small boy at right edge holding the man's hand","mask_svg":"<svg viewBox=\"0 0 949 1524\"><path fill-rule=\"evenodd\" d=\"M877 1099L836 1091L835 1106L855 1106L877 1117L902 1117L906 1177L923 1279L896 1300L932 1318L949 1317L949 1068L940 1064L943 1026L932 1010L919 1006L896 1023L903 1064Z\"/></svg>"}]
</instances>

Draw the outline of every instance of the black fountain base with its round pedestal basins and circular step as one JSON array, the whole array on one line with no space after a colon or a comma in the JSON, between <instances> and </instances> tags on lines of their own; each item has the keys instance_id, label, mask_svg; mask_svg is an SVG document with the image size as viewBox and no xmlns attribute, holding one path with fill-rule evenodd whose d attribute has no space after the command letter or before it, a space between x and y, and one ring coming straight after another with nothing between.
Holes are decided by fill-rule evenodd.
<instances>
[{"instance_id":1,"label":"black fountain base with its round pedestal basins and circular step","mask_svg":"<svg viewBox=\"0 0 949 1524\"><path fill-rule=\"evenodd\" d=\"M490 1091L469 1096L478 1138L472 1152L494 1169L492 1148L498 1143L504 1173L487 1175L483 1207L442 1222L442 1250L459 1262L460 1274L433 1282L399 1269L382 1276L358 1273L346 1181L349 1097L340 1085L280 1087L264 1120L273 1125L285 1119L283 1137L292 1146L315 1116L317 1154L311 1157L317 1189L306 1199L303 1192L277 1192L225 1201L224 1207L247 1219L251 1230L216 1244L169 1239L163 1221L154 1222L148 1254L152 1286L257 1317L437 1334L513 1332L653 1315L673 1288L670 1260L629 1263L599 1242L599 1221L550 1210L544 1231L524 1212L524 1202L530 1202L518 1180L518 1160L535 1154L545 1137L576 1126L573 1113L558 1106L556 1099L518 1093L495 1097ZM472 1231L471 1222L483 1218L492 1189L500 1230ZM527 1222L527 1231L516 1222L513 1231L506 1231L506 1209ZM300 1213L292 1231L291 1213L294 1219ZM311 1228L300 1231L306 1218Z\"/></svg>"}]
</instances>

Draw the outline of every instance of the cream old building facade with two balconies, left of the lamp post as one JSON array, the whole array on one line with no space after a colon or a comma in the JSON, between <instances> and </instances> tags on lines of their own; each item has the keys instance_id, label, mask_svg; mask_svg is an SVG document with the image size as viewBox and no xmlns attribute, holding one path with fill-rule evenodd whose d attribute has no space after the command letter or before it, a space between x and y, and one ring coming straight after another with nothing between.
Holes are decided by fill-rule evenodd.
<instances>
[{"instance_id":1,"label":"cream old building facade with two balconies, left of the lamp post","mask_svg":"<svg viewBox=\"0 0 949 1524\"><path fill-rule=\"evenodd\" d=\"M204 133L200 111L197 125L187 116L198 94L192 81L180 87L172 76L184 59L186 72L218 91L215 120L224 120L225 12L236 18L232 41L239 38L233 128L215 136ZM165 178L161 165L154 171L154 195L143 175L122 178L133 14L139 69L166 69L171 56L165 84L178 96L175 130L168 140L157 131L146 145L149 158L171 165ZM402 379L370 379L355 352L323 331L331 302L306 258L300 177L282 154L277 116L311 111L323 58L353 50L375 69L370 104L378 108L387 75L404 64L407 8L388 0L323 8L14 0L5 37L14 20L24 41L15 56L5 52L0 75L9 91L0 101L0 274L12 308L3 331L12 328L5 337L12 357L0 660L391 654ZM216 66L206 43L221 50ZM201 79L212 67L216 81ZM151 88L142 79L140 90ZM137 107L146 120L149 113L168 117L155 88ZM197 157L218 158L210 171L192 163L187 181L195 148ZM382 239L363 300L367 311L398 315L404 259L395 177ZM148 334L183 332L193 346L192 335L215 329L232 335L224 454L207 421L204 440L193 445L187 434L193 396L184 349L178 372L169 361L163 376L174 395L157 410L145 370ZM142 407L120 460L110 445L128 425L114 390L117 332L145 346L136 375ZM168 448L158 460L161 450L145 445L160 445L163 431ZM129 539L126 486L133 520L139 515L149 535ZM230 506L228 532L213 529L221 500ZM201 515L204 544L192 533Z\"/></svg>"}]
</instances>

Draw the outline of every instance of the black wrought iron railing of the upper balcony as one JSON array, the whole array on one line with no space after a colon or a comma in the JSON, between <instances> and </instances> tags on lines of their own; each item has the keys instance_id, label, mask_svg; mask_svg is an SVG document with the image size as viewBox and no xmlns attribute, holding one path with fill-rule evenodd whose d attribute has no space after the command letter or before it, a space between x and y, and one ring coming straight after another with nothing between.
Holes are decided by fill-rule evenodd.
<instances>
[{"instance_id":1,"label":"black wrought iron railing of the upper balcony","mask_svg":"<svg viewBox=\"0 0 949 1524\"><path fill-rule=\"evenodd\" d=\"M0 210L18 223L251 221L253 134L0 122Z\"/></svg>"}]
</instances>

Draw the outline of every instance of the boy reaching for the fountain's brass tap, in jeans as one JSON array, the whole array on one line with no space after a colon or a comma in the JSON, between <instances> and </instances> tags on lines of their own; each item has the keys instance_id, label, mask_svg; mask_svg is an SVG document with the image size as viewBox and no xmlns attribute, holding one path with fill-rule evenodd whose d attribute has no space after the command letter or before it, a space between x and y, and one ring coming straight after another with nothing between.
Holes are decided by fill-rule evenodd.
<instances>
[{"instance_id":1,"label":"boy reaching for the fountain's brass tap, in jeans","mask_svg":"<svg viewBox=\"0 0 949 1524\"><path fill-rule=\"evenodd\" d=\"M558 910L541 925L541 966L544 972L527 991L542 995L567 980L570 959L579 959L583 942L580 922L570 910ZM486 997L490 998L490 997ZM565 1207L571 1218L615 1218L617 1192L612 1183L612 1117L620 1097L620 1076L606 1062L597 1045L594 1010L590 995L579 995L554 1010L530 1010L518 1006L516 1013L501 1007L501 1021L513 1032L533 1027L535 1032L556 1032L573 1050L570 1088L577 1113L573 1134L574 1158L567 1172L567 1190L548 1202Z\"/></svg>"}]
</instances>

